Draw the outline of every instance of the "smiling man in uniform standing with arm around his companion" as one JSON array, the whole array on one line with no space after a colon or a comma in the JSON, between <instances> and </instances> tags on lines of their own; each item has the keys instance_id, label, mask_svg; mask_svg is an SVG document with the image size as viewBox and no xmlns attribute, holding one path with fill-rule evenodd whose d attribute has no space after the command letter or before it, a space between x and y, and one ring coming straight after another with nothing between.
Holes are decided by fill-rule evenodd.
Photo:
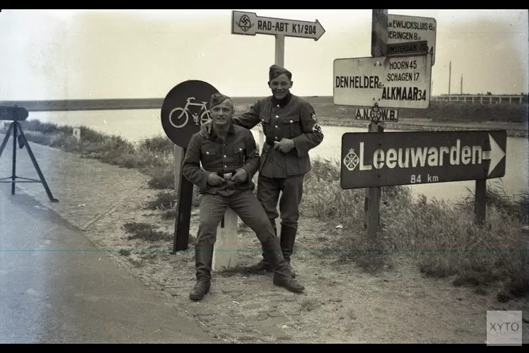
<instances>
[{"instance_id":1,"label":"smiling man in uniform standing with arm around his companion","mask_svg":"<svg viewBox=\"0 0 529 353\"><path fill-rule=\"evenodd\" d=\"M270 224L277 234L276 208L279 193L281 233L279 235L283 256L293 277L291 255L298 230L299 204L303 195L303 179L310 171L309 150L323 140L322 128L317 123L312 104L290 92L292 73L277 65L270 66L268 87L272 95L255 104L241 116L233 117L233 124L253 128L261 123L266 142L263 145L257 179L257 198L265 208ZM200 127L200 134L207 138L211 122ZM260 263L248 268L250 273L271 270L265 253Z\"/></svg>"}]
</instances>

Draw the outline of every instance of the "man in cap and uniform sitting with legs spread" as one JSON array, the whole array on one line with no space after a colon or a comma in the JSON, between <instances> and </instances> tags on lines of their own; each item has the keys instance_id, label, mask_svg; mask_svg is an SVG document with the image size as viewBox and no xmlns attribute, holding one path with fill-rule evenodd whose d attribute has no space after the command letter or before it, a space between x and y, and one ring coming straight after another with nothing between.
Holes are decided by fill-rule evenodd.
<instances>
[{"instance_id":1,"label":"man in cap and uniform sitting with legs spread","mask_svg":"<svg viewBox=\"0 0 529 353\"><path fill-rule=\"evenodd\" d=\"M291 277L279 239L253 193L259 151L251 131L231 123L233 102L226 95L212 95L210 109L212 133L209 138L200 133L191 137L182 167L183 177L198 186L202 194L195 245L197 282L190 299L200 300L209 292L217 227L226 208L231 208L261 241L265 258L274 271L274 285L303 292L303 285Z\"/></svg>"}]
</instances>

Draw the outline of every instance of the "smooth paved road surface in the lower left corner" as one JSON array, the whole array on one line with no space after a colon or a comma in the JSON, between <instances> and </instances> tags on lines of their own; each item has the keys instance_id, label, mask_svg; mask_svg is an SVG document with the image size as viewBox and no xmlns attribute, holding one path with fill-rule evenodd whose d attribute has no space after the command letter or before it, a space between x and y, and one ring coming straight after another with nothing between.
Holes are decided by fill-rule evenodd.
<instances>
[{"instance_id":1,"label":"smooth paved road surface in the lower left corner","mask_svg":"<svg viewBox=\"0 0 529 353\"><path fill-rule=\"evenodd\" d=\"M54 211L0 184L0 343L14 342L219 341Z\"/></svg>"}]
</instances>

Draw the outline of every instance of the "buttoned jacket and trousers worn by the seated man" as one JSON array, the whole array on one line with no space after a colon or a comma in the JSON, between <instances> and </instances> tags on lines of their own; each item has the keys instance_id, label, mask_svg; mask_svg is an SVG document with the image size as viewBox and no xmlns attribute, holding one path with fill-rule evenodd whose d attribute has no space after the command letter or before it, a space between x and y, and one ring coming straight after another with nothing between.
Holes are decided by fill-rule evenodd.
<instances>
[{"instance_id":1,"label":"buttoned jacket and trousers worn by the seated man","mask_svg":"<svg viewBox=\"0 0 529 353\"><path fill-rule=\"evenodd\" d=\"M252 178L258 164L259 152L253 134L241 126L231 124L225 141L214 133L214 129L209 138L202 138L200 133L191 137L183 160L182 174L202 193L197 234L199 248L202 244L215 243L217 227L226 208L231 208L255 232L262 244L274 239L274 229L265 209L252 192L255 189ZM248 178L242 183L226 180L219 186L207 184L209 174L235 174L238 168L248 172Z\"/></svg>"}]
</instances>

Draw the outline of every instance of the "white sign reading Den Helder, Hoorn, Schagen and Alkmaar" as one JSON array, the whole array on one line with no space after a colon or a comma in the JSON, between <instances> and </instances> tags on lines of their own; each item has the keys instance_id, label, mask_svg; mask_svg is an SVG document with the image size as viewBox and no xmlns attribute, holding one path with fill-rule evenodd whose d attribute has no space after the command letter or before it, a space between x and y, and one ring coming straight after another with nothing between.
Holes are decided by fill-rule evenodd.
<instances>
[{"instance_id":1,"label":"white sign reading Den Helder, Hoorn, Schagen and Alkmaar","mask_svg":"<svg viewBox=\"0 0 529 353\"><path fill-rule=\"evenodd\" d=\"M334 104L427 109L431 60L431 55L335 59Z\"/></svg>"}]
</instances>

